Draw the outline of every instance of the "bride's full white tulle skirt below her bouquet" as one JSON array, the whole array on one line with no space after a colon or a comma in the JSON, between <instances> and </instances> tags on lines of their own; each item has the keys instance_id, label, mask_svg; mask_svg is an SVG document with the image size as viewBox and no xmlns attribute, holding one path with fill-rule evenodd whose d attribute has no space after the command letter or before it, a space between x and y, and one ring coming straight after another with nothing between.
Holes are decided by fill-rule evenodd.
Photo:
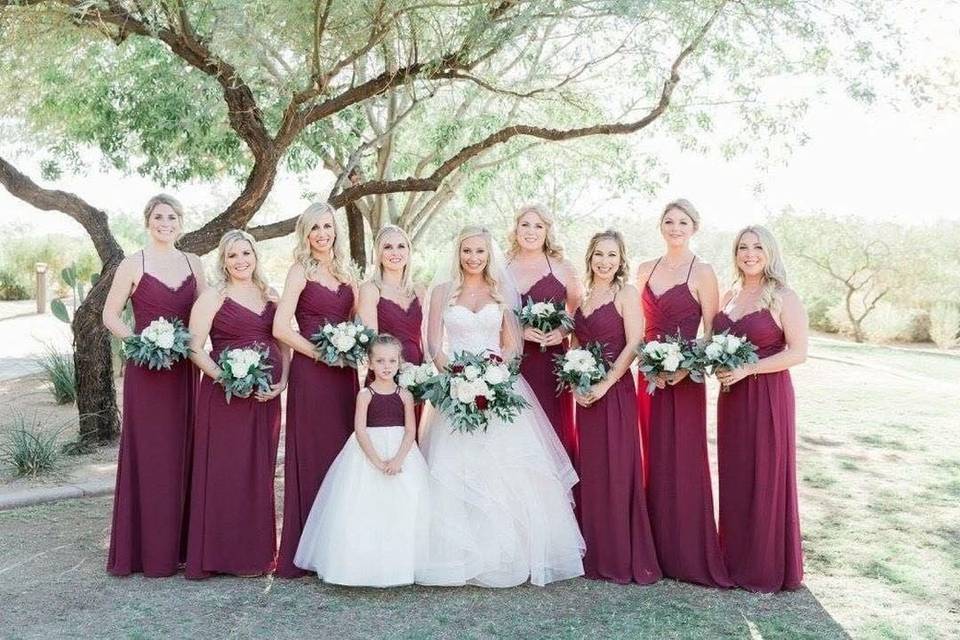
<instances>
[{"instance_id":1,"label":"bride's full white tulle skirt below her bouquet","mask_svg":"<svg viewBox=\"0 0 960 640\"><path fill-rule=\"evenodd\" d=\"M519 391L531 408L486 432L453 431L439 411L425 411L431 516L418 583L543 586L583 575L576 472L522 379Z\"/></svg>"}]
</instances>

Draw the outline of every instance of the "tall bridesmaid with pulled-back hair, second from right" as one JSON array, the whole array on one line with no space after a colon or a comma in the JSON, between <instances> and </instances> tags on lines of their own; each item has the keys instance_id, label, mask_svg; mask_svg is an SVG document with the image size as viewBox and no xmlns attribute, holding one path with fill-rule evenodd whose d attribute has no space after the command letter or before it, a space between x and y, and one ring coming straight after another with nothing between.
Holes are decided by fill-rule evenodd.
<instances>
[{"instance_id":1,"label":"tall bridesmaid with pulled-back hair, second from right","mask_svg":"<svg viewBox=\"0 0 960 640\"><path fill-rule=\"evenodd\" d=\"M664 253L640 265L637 287L644 339L679 333L710 334L717 313L717 277L690 249L700 212L689 200L674 200L660 214ZM711 587L731 587L723 565L707 459L707 393L679 371L657 380L650 395L640 384L637 405L647 474L650 526L663 574Z\"/></svg>"}]
</instances>

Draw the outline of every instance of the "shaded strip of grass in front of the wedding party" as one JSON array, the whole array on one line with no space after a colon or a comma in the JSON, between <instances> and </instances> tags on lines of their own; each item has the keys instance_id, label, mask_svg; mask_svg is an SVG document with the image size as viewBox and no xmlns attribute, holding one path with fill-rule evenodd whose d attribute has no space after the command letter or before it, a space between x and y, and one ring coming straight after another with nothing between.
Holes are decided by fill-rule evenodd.
<instances>
[{"instance_id":1,"label":"shaded strip of grass in front of the wedding party","mask_svg":"<svg viewBox=\"0 0 960 640\"><path fill-rule=\"evenodd\" d=\"M5 637L848 638L807 589L663 580L546 588L354 589L314 578L106 574L109 498L0 513Z\"/></svg>"}]
</instances>

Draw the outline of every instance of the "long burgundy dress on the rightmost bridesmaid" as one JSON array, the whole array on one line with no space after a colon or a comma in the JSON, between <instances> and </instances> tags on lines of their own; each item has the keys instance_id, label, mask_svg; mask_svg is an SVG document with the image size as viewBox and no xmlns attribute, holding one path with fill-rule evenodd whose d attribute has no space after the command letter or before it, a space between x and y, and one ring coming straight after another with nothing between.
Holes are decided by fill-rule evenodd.
<instances>
[{"instance_id":1,"label":"long burgundy dress on the rightmost bridesmaid","mask_svg":"<svg viewBox=\"0 0 960 640\"><path fill-rule=\"evenodd\" d=\"M768 309L736 321L723 312L714 332L745 335L766 358L786 347ZM797 507L793 384L789 371L748 376L717 402L720 544L730 577L750 591L803 582Z\"/></svg>"}]
</instances>

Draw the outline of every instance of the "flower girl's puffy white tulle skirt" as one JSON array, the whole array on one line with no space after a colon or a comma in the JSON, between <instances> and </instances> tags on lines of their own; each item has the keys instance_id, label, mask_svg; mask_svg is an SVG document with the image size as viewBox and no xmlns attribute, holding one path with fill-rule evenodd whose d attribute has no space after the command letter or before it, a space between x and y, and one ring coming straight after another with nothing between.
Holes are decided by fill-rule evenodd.
<instances>
[{"instance_id":1,"label":"flower girl's puffy white tulle skirt","mask_svg":"<svg viewBox=\"0 0 960 640\"><path fill-rule=\"evenodd\" d=\"M383 459L393 457L403 427L367 429ZM388 476L347 440L334 460L303 527L294 564L324 582L392 587L412 584L426 557L428 472L416 445L403 471Z\"/></svg>"}]
</instances>

